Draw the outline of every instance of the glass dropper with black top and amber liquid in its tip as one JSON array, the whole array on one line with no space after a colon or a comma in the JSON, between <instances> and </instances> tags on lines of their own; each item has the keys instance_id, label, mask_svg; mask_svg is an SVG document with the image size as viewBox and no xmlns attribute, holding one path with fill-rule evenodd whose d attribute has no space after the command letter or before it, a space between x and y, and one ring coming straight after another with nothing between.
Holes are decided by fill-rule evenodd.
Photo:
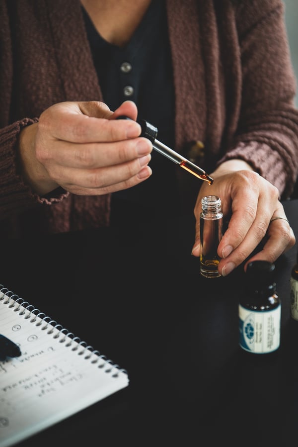
<instances>
[{"instance_id":1,"label":"glass dropper with black top and amber liquid in its tip","mask_svg":"<svg viewBox=\"0 0 298 447\"><path fill-rule=\"evenodd\" d=\"M127 116L118 116L117 119L130 118L128 118ZM213 178L210 177L203 169L199 168L199 166L187 160L185 157L182 157L182 155L178 154L178 152L173 151L173 149L158 141L156 139L157 127L153 126L145 119L137 120L137 123L140 124L142 128L140 137L148 138L151 141L153 149L155 149L155 151L159 152L159 154L168 158L172 162L178 164L180 168L189 172L193 176L198 177L201 180L208 181L210 185L213 183Z\"/></svg>"}]
</instances>

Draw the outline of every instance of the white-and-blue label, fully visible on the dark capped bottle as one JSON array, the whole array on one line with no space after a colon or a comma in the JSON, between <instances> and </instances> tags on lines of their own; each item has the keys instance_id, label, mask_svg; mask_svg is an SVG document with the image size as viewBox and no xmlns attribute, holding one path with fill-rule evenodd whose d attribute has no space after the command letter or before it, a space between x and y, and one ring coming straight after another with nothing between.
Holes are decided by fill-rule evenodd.
<instances>
[{"instance_id":1,"label":"white-and-blue label, fully visible on the dark capped bottle","mask_svg":"<svg viewBox=\"0 0 298 447\"><path fill-rule=\"evenodd\" d=\"M280 346L281 304L273 310L251 311L239 304L239 345L245 351L267 354Z\"/></svg>"}]
</instances>

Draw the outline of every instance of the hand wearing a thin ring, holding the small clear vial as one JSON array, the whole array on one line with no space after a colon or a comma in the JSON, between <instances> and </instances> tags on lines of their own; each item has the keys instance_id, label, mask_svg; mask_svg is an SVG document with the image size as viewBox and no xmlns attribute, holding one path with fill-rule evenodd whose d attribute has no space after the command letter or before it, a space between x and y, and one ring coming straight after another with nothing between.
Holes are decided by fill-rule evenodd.
<instances>
[{"instance_id":1,"label":"hand wearing a thin ring, holding the small clear vial","mask_svg":"<svg viewBox=\"0 0 298 447\"><path fill-rule=\"evenodd\" d=\"M200 212L201 199L206 195L217 195L222 200L224 218L228 218L228 228L218 247L222 258L219 271L226 276L250 256L261 241L264 245L258 253L247 259L275 262L296 240L284 207L279 201L278 189L252 171L241 160L224 162L213 174L210 186L201 186L196 206L196 240L192 254L200 256ZM284 219L274 219L283 217ZM271 222L272 220L272 222Z\"/></svg>"}]
</instances>

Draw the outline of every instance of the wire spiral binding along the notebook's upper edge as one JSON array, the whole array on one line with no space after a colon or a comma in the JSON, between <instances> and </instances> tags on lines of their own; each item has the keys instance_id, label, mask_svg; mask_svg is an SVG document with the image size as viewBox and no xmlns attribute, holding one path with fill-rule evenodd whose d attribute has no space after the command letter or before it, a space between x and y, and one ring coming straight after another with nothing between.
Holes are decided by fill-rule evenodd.
<instances>
[{"instance_id":1,"label":"wire spiral binding along the notebook's upper edge","mask_svg":"<svg viewBox=\"0 0 298 447\"><path fill-rule=\"evenodd\" d=\"M36 326L41 326L41 330L48 330L47 334L54 334L53 338L58 339L63 336L63 338L59 340L60 343L67 342L65 346L68 348L73 345L72 351L78 351L77 354L79 356L84 356L86 360L92 358L91 363L98 363L98 368L106 367L105 372L111 373L112 377L118 377L120 372L128 374L126 369L120 368L119 365L114 363L111 359L107 359L106 356L100 354L99 351L94 350L92 346L81 341L79 337L75 337L72 332L69 332L61 324L58 324L57 321L51 320L49 316L40 312L39 309L32 306L32 304L29 304L28 301L23 300L23 298L20 298L11 290L4 287L3 284L0 284L0 293L2 293L0 301L3 301L3 304L7 304L8 307L16 306L14 312L19 312L19 315L24 316L26 320L30 319L30 323L36 322Z\"/></svg>"}]
</instances>

